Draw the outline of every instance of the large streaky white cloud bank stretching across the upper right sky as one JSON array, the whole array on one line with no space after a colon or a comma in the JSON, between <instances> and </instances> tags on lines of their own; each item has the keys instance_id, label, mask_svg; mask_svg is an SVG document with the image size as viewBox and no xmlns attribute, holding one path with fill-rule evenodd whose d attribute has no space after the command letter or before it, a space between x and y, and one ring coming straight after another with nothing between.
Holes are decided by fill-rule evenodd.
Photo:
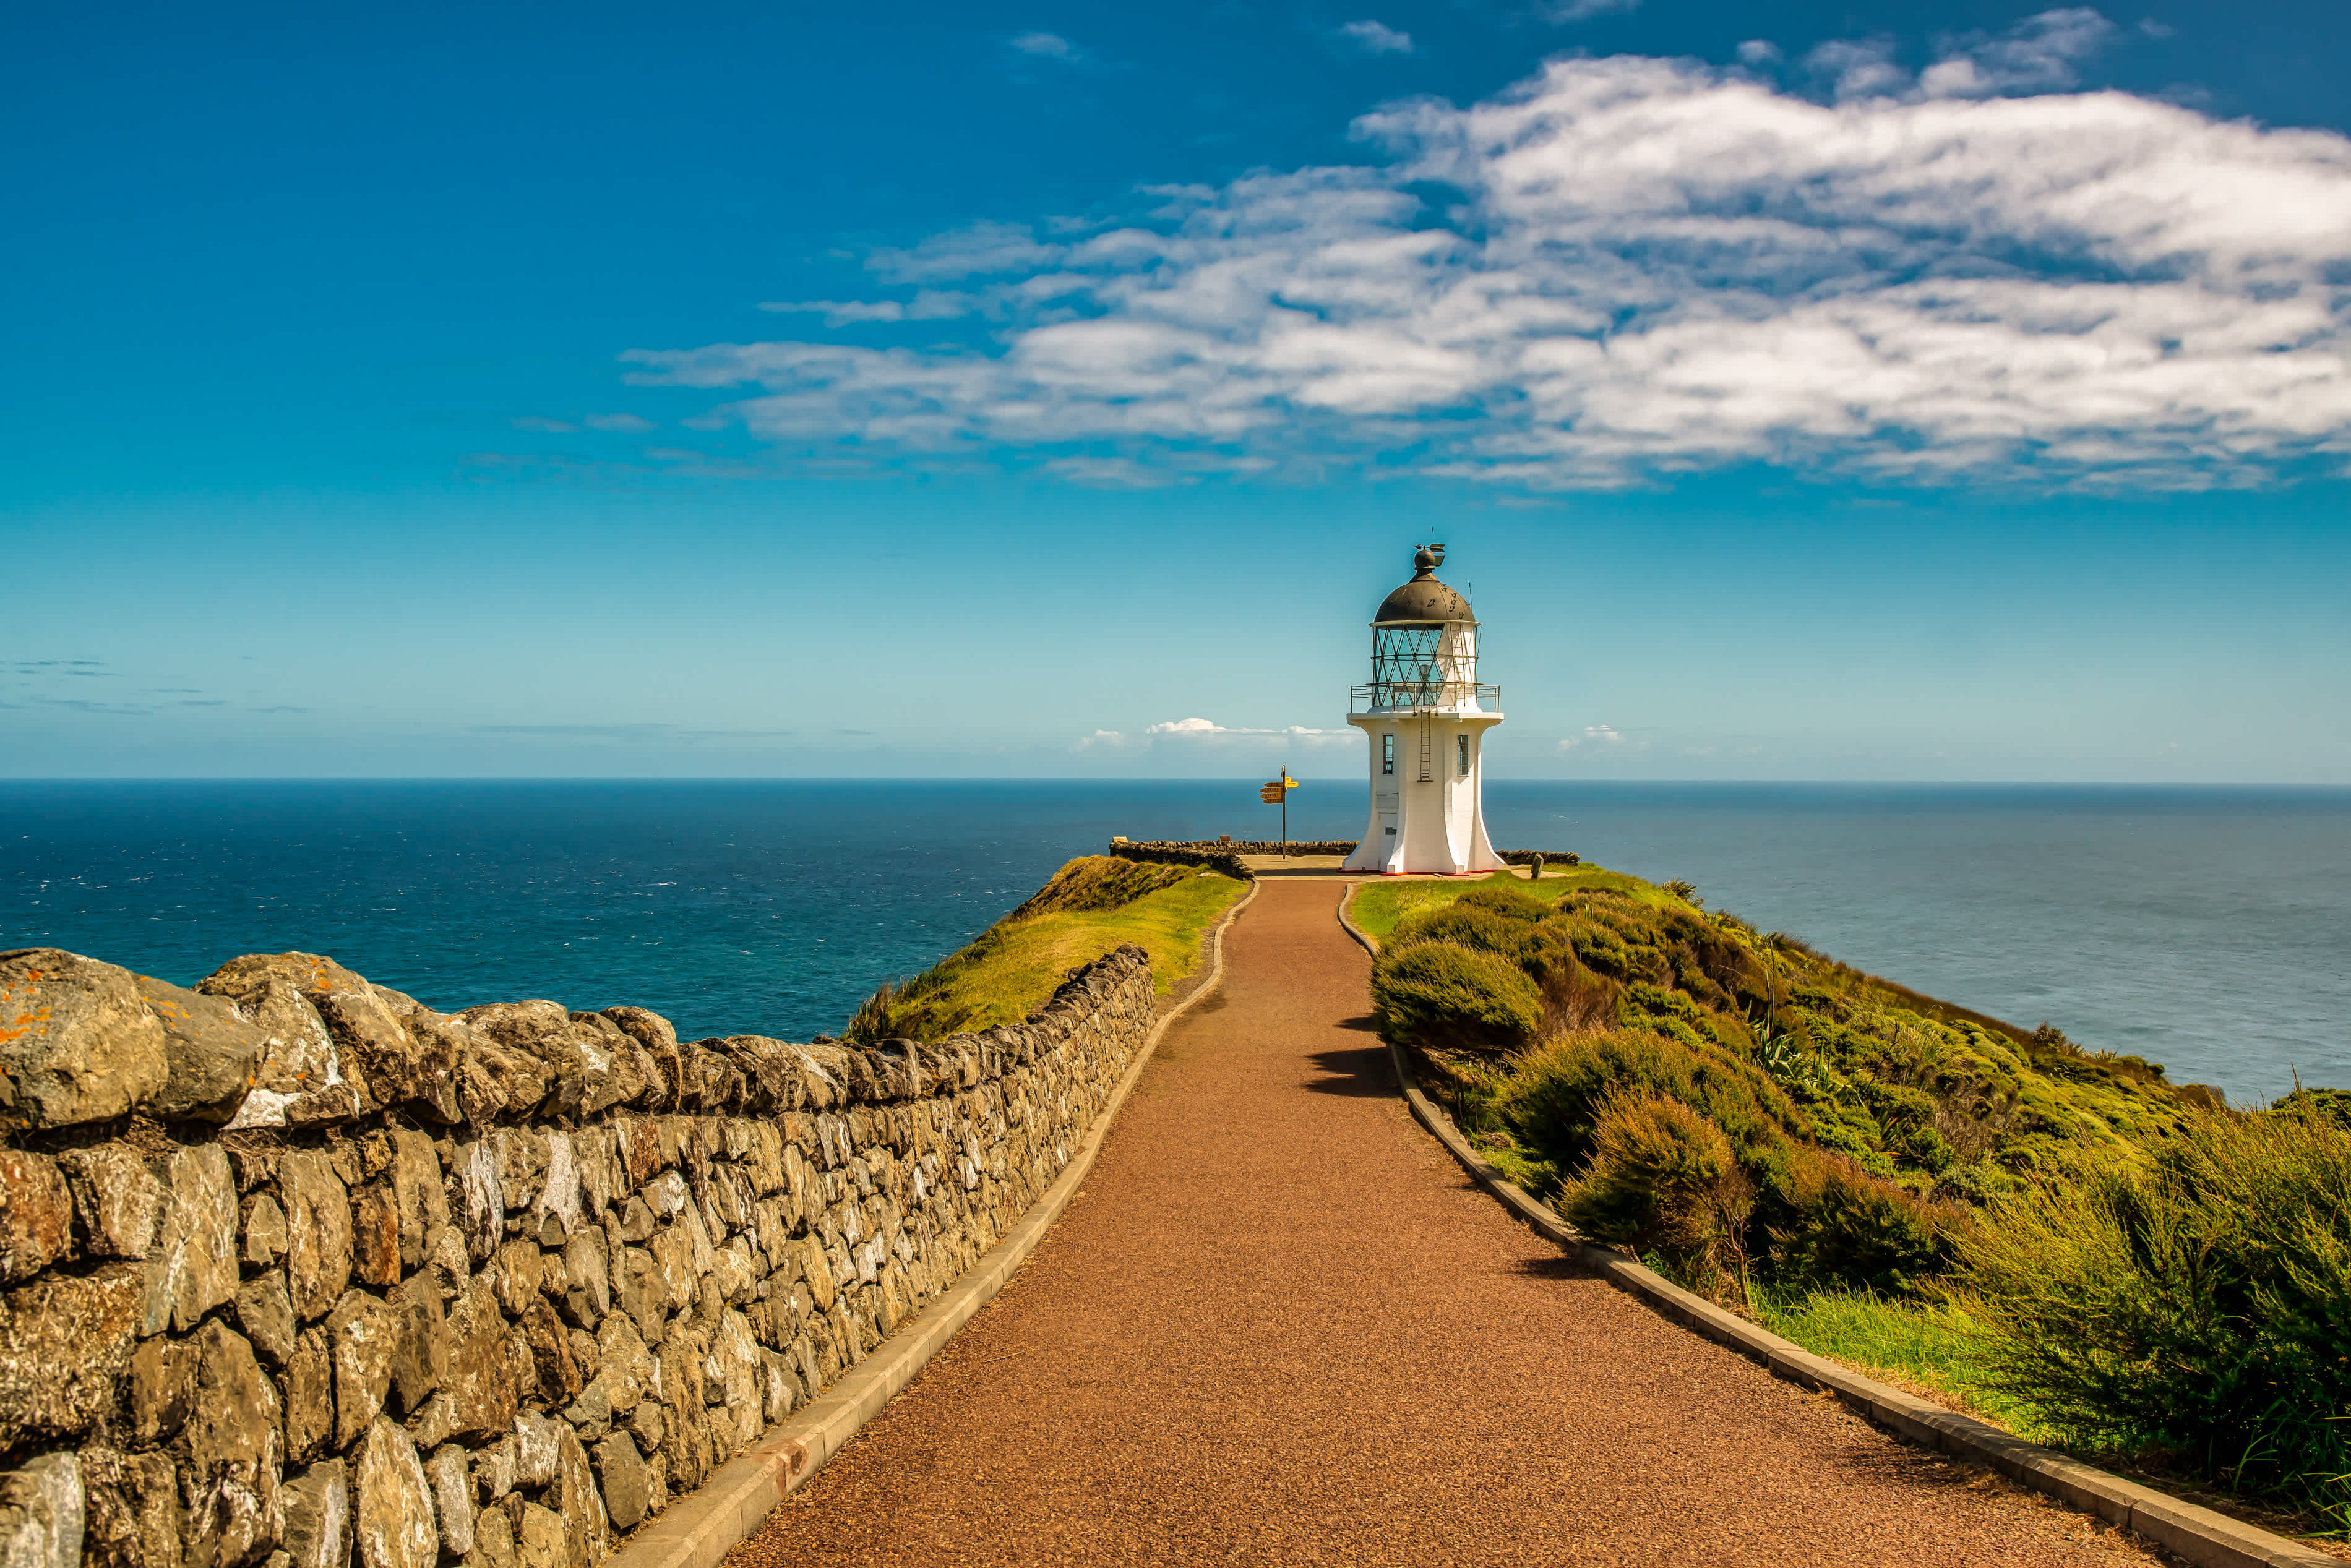
<instances>
[{"instance_id":1,"label":"large streaky white cloud bank stretching across the upper right sky","mask_svg":"<svg viewBox=\"0 0 2351 1568\"><path fill-rule=\"evenodd\" d=\"M1815 52L1836 101L1559 59L1469 108L1368 115L1364 167L870 259L955 282L994 324L969 348L625 360L745 388L715 411L806 461L1011 454L1086 484L1364 465L1566 489L1775 463L2201 487L2342 465L2351 141L2034 89L2102 28L2048 12L1916 80L1876 45ZM1458 195L1432 209L1432 188Z\"/></svg>"}]
</instances>

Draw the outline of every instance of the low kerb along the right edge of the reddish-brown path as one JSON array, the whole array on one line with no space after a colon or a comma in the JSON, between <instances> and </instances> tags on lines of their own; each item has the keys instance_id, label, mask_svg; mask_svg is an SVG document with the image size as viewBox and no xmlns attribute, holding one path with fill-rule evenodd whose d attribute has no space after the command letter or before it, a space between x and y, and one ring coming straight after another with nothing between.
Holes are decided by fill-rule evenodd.
<instances>
[{"instance_id":1,"label":"low kerb along the right edge of the reddish-brown path","mask_svg":"<svg viewBox=\"0 0 2351 1568\"><path fill-rule=\"evenodd\" d=\"M1340 896L1338 924L1347 929L1347 936L1364 945L1364 952L1380 957L1380 943L1347 919L1347 905L1354 900L1357 886L1361 884L1349 882L1347 891ZM1836 1361L1815 1356L1791 1340L1782 1340L1742 1316L1723 1312L1702 1295L1683 1291L1681 1286L1662 1279L1655 1269L1648 1269L1622 1253L1585 1241L1585 1237L1552 1213L1549 1206L1538 1204L1533 1194L1502 1175L1502 1171L1469 1147L1469 1143L1453 1126L1453 1119L1446 1117L1444 1110L1439 1110L1425 1093L1420 1093L1420 1084L1413 1081L1413 1070L1406 1065L1404 1053L1394 1044L1387 1046L1387 1060L1394 1065L1396 1084L1404 1088L1404 1100L1413 1107L1413 1117L1420 1126L1429 1128L1429 1133L1446 1145L1446 1152L1451 1152L1453 1159L1458 1159L1462 1168L1469 1171L1469 1175L1474 1175L1479 1185L1500 1199L1502 1206L1519 1220L1547 1241L1554 1241L1568 1255L1603 1274L1615 1288L1627 1295L1639 1295L1674 1324L1681 1324L1683 1328L1690 1328L1693 1333L1700 1333L1716 1345L1747 1356L1749 1361L1761 1361L1775 1378L1787 1378L1806 1389L1836 1394L1848 1410L1886 1427L1900 1439L1918 1443L1921 1448L1949 1453L1958 1460L1989 1465L2010 1481L2045 1493L2067 1507L2097 1514L2116 1528L2135 1530L2158 1547L2196 1563L2196 1568L2342 1568L2342 1559L2311 1552L2285 1535L2259 1530L2193 1502L2182 1502L2179 1497L2158 1493L2151 1486L2125 1481L2123 1476L2106 1474L2104 1469L2095 1469L2081 1460L2069 1460L2052 1448L2027 1443L2024 1439L2001 1432L1998 1427L1970 1420L1956 1410L1944 1410L1937 1403L1904 1394L1902 1389L1888 1387L1874 1378L1862 1378L1850 1366L1838 1366Z\"/></svg>"}]
</instances>

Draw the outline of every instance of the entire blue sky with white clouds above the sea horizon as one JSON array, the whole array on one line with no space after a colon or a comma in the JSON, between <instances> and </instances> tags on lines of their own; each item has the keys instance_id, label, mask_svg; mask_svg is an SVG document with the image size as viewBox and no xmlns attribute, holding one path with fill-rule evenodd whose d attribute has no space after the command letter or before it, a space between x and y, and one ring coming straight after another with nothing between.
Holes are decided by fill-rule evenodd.
<instances>
[{"instance_id":1,"label":"entire blue sky with white clouds above the sea horizon","mask_svg":"<svg viewBox=\"0 0 2351 1568\"><path fill-rule=\"evenodd\" d=\"M2351 9L42 7L0 776L2351 783Z\"/></svg>"}]
</instances>

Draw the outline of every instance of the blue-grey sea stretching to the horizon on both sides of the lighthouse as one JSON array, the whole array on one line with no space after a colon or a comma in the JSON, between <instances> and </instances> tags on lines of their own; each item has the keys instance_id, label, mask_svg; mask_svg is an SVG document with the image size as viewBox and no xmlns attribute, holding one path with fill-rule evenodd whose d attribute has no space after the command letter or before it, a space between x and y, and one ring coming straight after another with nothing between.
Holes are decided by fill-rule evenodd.
<instances>
[{"instance_id":1,"label":"blue-grey sea stretching to the horizon on both sides of the lighthouse","mask_svg":"<svg viewBox=\"0 0 2351 1568\"><path fill-rule=\"evenodd\" d=\"M2241 1100L2351 1084L2351 792L1491 783L1502 846L1688 877L1874 973ZM1253 780L0 783L0 950L193 983L327 952L458 1009L835 1032L1112 835L1270 832ZM1347 837L1310 783L1295 837Z\"/></svg>"}]
</instances>

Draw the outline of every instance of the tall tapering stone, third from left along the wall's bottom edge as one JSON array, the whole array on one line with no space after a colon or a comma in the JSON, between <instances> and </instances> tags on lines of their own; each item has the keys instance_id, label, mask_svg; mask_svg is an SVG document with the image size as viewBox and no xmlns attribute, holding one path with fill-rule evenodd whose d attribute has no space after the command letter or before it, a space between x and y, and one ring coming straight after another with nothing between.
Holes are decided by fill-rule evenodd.
<instances>
[{"instance_id":1,"label":"tall tapering stone, third from left along the wall's bottom edge","mask_svg":"<svg viewBox=\"0 0 2351 1568\"><path fill-rule=\"evenodd\" d=\"M195 1345L195 1408L181 1432L188 1450L188 1561L195 1568L235 1568L268 1556L284 1530L277 1389L254 1361L254 1347L219 1321L207 1321Z\"/></svg>"}]
</instances>

